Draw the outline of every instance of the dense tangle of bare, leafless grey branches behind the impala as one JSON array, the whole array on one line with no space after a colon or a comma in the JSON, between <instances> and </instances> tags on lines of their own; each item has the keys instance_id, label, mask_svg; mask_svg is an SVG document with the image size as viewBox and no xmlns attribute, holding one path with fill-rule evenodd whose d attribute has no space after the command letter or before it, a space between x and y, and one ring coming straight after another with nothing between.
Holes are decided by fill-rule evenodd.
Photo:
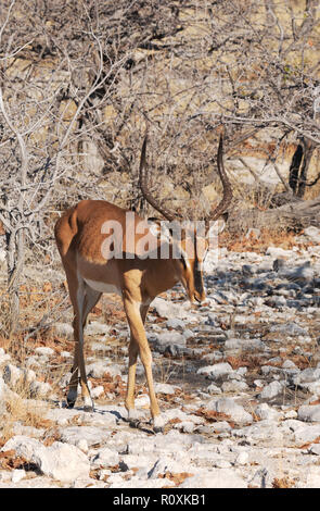
<instances>
[{"instance_id":1,"label":"dense tangle of bare, leafless grey branches behind the impala","mask_svg":"<svg viewBox=\"0 0 320 511\"><path fill-rule=\"evenodd\" d=\"M87 197L140 204L145 123L151 186L164 200L175 187L179 211L189 204L201 216L209 207L203 190L221 125L227 169L238 159L263 186L244 160L249 142L290 199L317 184L308 164L320 142L319 16L317 0L1 2L0 221L12 328L24 264L49 271L62 209ZM289 179L278 165L285 144L295 145Z\"/></svg>"}]
</instances>

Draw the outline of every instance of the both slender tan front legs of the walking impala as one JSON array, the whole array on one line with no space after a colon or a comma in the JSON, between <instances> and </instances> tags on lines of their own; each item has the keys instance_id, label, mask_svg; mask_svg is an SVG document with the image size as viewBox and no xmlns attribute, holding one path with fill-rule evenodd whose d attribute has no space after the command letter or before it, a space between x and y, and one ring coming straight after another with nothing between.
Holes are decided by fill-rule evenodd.
<instances>
[{"instance_id":1,"label":"both slender tan front legs of the walking impala","mask_svg":"<svg viewBox=\"0 0 320 511\"><path fill-rule=\"evenodd\" d=\"M145 336L143 321L148 311L141 311L140 313L140 303L131 301L129 299L124 299L125 311L127 314L131 340L129 347L129 374L128 374L128 387L127 387L127 398L126 398L126 408L128 410L129 419L130 416L136 415L135 411L135 386L136 386L136 365L137 365L137 356L138 351L140 354L141 362L144 367L149 397L150 397L150 408L151 415L153 420L153 427L155 432L162 431L164 422L161 417L161 412L157 403L157 399L153 386L152 377L152 354L149 347L149 342ZM143 317L144 316L144 317ZM136 415L137 416L137 415Z\"/></svg>"}]
</instances>

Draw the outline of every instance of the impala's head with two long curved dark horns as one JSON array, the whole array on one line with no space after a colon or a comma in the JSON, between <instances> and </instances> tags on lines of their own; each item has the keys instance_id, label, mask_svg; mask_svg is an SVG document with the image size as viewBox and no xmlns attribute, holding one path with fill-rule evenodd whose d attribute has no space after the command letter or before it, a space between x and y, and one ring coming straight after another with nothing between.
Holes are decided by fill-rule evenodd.
<instances>
[{"instance_id":1,"label":"impala's head with two long curved dark horns","mask_svg":"<svg viewBox=\"0 0 320 511\"><path fill-rule=\"evenodd\" d=\"M226 209L232 199L231 185L222 162L222 137L220 137L219 141L217 161L218 173L223 186L223 197L217 208L203 222L181 221L172 212L158 204L151 196L146 183L146 173L144 172L146 166L145 147L146 136L142 146L140 161L140 187L143 197L169 221L166 238L171 248L170 261L174 264L175 277L183 285L189 300L200 303L205 299L203 264L209 249L209 241L213 236L217 236L218 232L221 230L221 225L218 225L216 221L221 216L226 219Z\"/></svg>"}]
</instances>

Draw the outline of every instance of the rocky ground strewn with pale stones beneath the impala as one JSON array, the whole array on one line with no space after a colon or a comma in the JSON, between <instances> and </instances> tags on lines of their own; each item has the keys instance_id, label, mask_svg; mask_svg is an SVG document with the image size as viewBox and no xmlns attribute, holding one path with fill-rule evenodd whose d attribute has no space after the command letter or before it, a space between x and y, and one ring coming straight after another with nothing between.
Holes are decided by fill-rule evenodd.
<instances>
[{"instance_id":1,"label":"rocky ground strewn with pale stones beneath the impala","mask_svg":"<svg viewBox=\"0 0 320 511\"><path fill-rule=\"evenodd\" d=\"M153 302L164 433L149 423L141 365L141 423L126 421L128 329L120 307L107 315L110 297L86 334L92 413L80 399L65 408L69 323L24 363L0 348L0 487L320 487L319 240L310 228L292 250L222 249L206 264L204 304L180 288Z\"/></svg>"}]
</instances>

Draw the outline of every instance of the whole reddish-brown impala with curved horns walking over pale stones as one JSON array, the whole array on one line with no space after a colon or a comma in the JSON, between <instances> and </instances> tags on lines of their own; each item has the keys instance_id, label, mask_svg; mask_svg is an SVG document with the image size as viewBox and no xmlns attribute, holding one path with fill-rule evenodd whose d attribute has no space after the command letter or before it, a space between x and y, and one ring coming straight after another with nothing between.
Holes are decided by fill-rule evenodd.
<instances>
[{"instance_id":1,"label":"whole reddish-brown impala with curved horns walking over pale stones","mask_svg":"<svg viewBox=\"0 0 320 511\"><path fill-rule=\"evenodd\" d=\"M175 222L178 215L156 201L149 190L149 171L145 159L146 140L148 136L144 138L141 150L139 187L143 198L166 221ZM223 195L218 205L206 217L205 235L202 240L196 233L194 234L192 229L188 228L183 229L178 240L171 229L166 230L165 240L158 239L156 237L159 232L157 220L148 223L136 212L118 208L104 200L82 200L66 210L56 222L55 240L74 309L75 352L66 398L67 407L74 407L78 383L80 383L84 409L86 411L93 410L85 369L84 329L87 316L101 295L116 292L121 296L130 328L129 367L125 399L128 421L131 425L139 423L135 409L136 366L139 354L149 388L153 429L154 432L163 429L164 421L154 390L152 354L144 331L144 322L153 299L179 282L182 284L190 302L201 303L205 299L202 263L204 252L208 247L209 221L214 222L225 215L232 199L231 185L223 169L222 136L217 154L217 170L222 183ZM131 215L129 226L127 225L128 215ZM105 228L105 225L110 224L118 225L120 234L106 237L108 229ZM143 235L141 229L137 227L141 224L146 226L149 235L156 240L153 257L140 257L138 246L142 241ZM112 242L105 246L106 241L111 239ZM149 237L149 239L151 238ZM204 250L200 250L201 241L203 241ZM118 251L116 251L115 245L120 247ZM159 257L159 251L165 246L168 251L164 259ZM188 246L193 248L192 253L189 253ZM127 257L124 257L124 253Z\"/></svg>"}]
</instances>

